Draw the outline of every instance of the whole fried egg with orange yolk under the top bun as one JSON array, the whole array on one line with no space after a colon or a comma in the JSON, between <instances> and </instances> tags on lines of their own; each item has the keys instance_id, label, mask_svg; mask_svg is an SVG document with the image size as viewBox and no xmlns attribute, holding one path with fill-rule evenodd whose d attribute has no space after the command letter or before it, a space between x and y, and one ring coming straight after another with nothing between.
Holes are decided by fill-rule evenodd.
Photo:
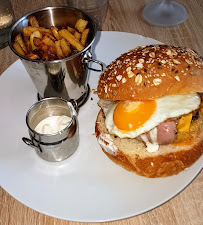
<instances>
[{"instance_id":1,"label":"whole fried egg with orange yolk under the top bun","mask_svg":"<svg viewBox=\"0 0 203 225\"><path fill-rule=\"evenodd\" d=\"M110 134L136 138L169 118L196 110L198 94L169 95L151 101L119 101L105 109L105 125Z\"/></svg>"}]
</instances>

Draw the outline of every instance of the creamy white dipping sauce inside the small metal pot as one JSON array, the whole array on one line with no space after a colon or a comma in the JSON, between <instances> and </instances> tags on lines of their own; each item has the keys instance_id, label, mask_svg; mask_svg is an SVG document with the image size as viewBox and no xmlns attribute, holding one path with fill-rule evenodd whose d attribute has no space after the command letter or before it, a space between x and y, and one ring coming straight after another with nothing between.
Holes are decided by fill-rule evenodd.
<instances>
[{"instance_id":1,"label":"creamy white dipping sauce inside the small metal pot","mask_svg":"<svg viewBox=\"0 0 203 225\"><path fill-rule=\"evenodd\" d=\"M67 127L70 121L71 118L64 115L49 116L39 122L34 130L40 134L54 134Z\"/></svg>"}]
</instances>

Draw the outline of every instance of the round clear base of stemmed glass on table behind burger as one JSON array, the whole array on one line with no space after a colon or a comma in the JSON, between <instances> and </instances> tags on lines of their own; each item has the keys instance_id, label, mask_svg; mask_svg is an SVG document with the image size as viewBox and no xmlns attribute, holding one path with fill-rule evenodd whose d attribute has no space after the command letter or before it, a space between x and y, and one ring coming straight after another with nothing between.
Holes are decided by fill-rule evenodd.
<instances>
[{"instance_id":1,"label":"round clear base of stemmed glass on table behind burger","mask_svg":"<svg viewBox=\"0 0 203 225\"><path fill-rule=\"evenodd\" d=\"M187 19L187 10L177 2L162 0L146 5L143 17L152 25L175 26Z\"/></svg>"}]
</instances>

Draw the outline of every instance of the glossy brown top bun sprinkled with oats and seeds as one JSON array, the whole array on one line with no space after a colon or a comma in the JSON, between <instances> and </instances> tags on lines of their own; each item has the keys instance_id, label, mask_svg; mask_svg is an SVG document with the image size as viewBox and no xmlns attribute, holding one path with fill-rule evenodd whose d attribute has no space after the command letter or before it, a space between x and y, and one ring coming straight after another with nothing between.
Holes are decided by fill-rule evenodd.
<instances>
[{"instance_id":1,"label":"glossy brown top bun sprinkled with oats and seeds","mask_svg":"<svg viewBox=\"0 0 203 225\"><path fill-rule=\"evenodd\" d=\"M140 46L111 62L100 75L97 93L104 100L153 100L203 92L203 61L189 48Z\"/></svg>"}]
</instances>

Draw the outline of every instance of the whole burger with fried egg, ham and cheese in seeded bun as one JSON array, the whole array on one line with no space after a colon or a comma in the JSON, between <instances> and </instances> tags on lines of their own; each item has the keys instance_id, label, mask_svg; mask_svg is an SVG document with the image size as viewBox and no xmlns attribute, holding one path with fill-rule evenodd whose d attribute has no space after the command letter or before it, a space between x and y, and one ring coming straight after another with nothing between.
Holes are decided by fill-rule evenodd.
<instances>
[{"instance_id":1,"label":"whole burger with fried egg, ham and cheese in seeded bun","mask_svg":"<svg viewBox=\"0 0 203 225\"><path fill-rule=\"evenodd\" d=\"M189 48L139 46L100 75L95 131L103 152L126 170L165 177L203 153L203 62Z\"/></svg>"}]
</instances>

